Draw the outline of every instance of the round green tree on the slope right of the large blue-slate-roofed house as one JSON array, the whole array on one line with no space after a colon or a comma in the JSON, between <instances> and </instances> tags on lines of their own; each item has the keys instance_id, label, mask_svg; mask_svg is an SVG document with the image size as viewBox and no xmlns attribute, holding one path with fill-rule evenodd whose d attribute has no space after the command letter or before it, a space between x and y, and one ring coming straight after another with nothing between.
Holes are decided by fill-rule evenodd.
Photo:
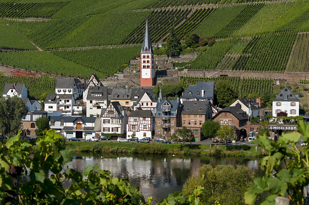
<instances>
[{"instance_id":1,"label":"round green tree on the slope right of the large blue-slate-roofed house","mask_svg":"<svg viewBox=\"0 0 309 205\"><path fill-rule=\"evenodd\" d=\"M218 103L222 106L229 106L235 101L235 91L231 88L224 80L219 80L215 84L215 94L218 100Z\"/></svg>"}]
</instances>

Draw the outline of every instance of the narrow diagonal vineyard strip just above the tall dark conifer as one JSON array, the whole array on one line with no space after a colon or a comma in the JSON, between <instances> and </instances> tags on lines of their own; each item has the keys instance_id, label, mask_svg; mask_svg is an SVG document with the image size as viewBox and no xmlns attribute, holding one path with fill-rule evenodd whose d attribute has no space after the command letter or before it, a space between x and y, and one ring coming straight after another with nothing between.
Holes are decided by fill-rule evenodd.
<instances>
[{"instance_id":1,"label":"narrow diagonal vineyard strip just above the tall dark conifer","mask_svg":"<svg viewBox=\"0 0 309 205\"><path fill-rule=\"evenodd\" d=\"M192 30L194 30L201 22L203 22L214 10L214 8L195 10L184 23L177 27L176 34L178 37L184 39L186 35L191 34Z\"/></svg>"}]
</instances>

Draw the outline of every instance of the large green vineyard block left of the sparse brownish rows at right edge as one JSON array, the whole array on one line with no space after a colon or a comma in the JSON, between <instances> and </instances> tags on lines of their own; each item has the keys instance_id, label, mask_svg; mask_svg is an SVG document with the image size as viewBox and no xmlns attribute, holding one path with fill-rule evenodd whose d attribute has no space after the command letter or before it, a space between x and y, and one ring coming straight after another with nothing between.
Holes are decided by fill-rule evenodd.
<instances>
[{"instance_id":1,"label":"large green vineyard block left of the sparse brownish rows at right edge","mask_svg":"<svg viewBox=\"0 0 309 205\"><path fill-rule=\"evenodd\" d=\"M295 37L292 32L254 37L233 70L285 71Z\"/></svg>"}]
</instances>

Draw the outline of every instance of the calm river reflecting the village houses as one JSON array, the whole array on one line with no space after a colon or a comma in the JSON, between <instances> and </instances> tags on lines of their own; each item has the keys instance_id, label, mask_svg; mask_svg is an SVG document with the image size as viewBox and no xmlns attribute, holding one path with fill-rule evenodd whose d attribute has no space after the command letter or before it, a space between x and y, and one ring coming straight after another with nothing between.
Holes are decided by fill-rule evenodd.
<instances>
[{"instance_id":1,"label":"calm river reflecting the village houses","mask_svg":"<svg viewBox=\"0 0 309 205\"><path fill-rule=\"evenodd\" d=\"M88 165L99 164L100 169L110 170L115 177L129 178L131 185L140 187L145 199L153 197L153 203L161 201L169 193L181 191L186 180L197 174L198 168L204 164L244 164L254 170L256 176L264 175L259 167L259 158L250 157L79 152L73 152L72 156L72 162L68 163L69 168L83 172ZM70 182L65 183L64 187L70 186Z\"/></svg>"}]
</instances>

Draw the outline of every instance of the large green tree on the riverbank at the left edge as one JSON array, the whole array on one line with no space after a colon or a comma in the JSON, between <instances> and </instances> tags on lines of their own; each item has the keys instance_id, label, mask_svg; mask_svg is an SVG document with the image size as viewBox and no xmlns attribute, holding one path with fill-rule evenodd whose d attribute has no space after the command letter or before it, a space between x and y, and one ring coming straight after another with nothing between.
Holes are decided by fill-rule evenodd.
<instances>
[{"instance_id":1,"label":"large green tree on the riverbank at the left edge","mask_svg":"<svg viewBox=\"0 0 309 205\"><path fill-rule=\"evenodd\" d=\"M16 135L27 112L27 106L17 96L0 99L0 133L8 138Z\"/></svg>"}]
</instances>

